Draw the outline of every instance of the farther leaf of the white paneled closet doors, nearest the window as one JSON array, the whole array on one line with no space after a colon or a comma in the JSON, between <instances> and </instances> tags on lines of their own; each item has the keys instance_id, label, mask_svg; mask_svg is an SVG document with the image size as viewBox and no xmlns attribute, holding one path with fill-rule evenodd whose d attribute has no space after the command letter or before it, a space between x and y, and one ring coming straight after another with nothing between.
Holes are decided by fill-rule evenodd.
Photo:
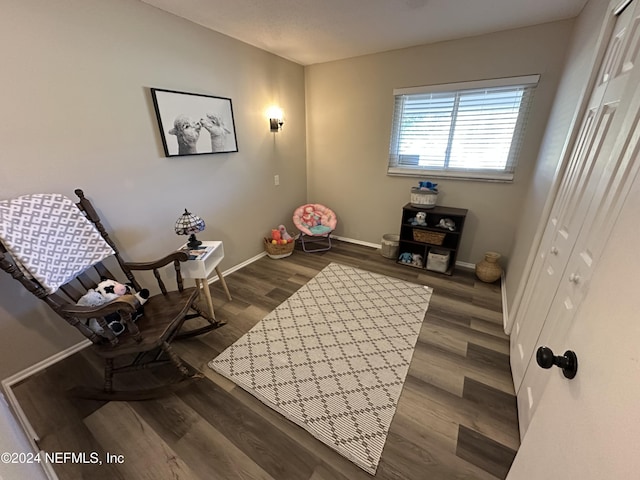
<instances>
[{"instance_id":1,"label":"farther leaf of the white paneled closet doors, nearest the window","mask_svg":"<svg viewBox=\"0 0 640 480\"><path fill-rule=\"evenodd\" d=\"M617 19L586 108L569 165L549 216L530 286L514 322L511 335L511 369L516 391L520 389L538 336L547 317L560 278L566 269L586 210L600 179L618 124L618 100L632 69L621 69L623 48L628 44L633 14L627 8ZM624 110L624 105L623 105Z\"/></svg>"}]
</instances>

